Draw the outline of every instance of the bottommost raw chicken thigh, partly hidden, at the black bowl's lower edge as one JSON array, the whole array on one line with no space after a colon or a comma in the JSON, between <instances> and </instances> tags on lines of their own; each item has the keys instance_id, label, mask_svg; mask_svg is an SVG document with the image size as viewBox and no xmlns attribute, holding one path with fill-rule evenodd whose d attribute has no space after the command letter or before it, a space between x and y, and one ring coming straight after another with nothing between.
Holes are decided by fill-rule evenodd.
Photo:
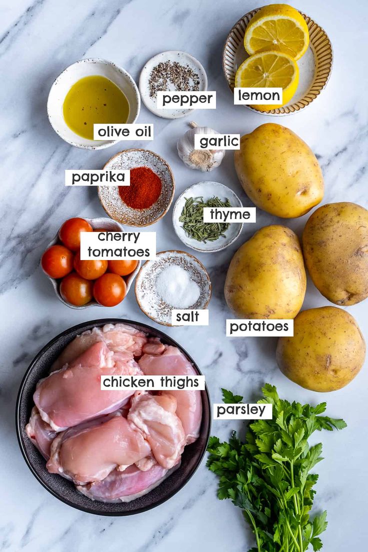
<instances>
[{"instance_id":1,"label":"bottommost raw chicken thigh, partly hidden, at the black bowl's lower edge","mask_svg":"<svg viewBox=\"0 0 368 552\"><path fill-rule=\"evenodd\" d=\"M103 481L79 485L78 491L100 502L129 502L146 495L168 475L168 470L154 464L148 471L129 466L125 471L114 470Z\"/></svg>"}]
</instances>

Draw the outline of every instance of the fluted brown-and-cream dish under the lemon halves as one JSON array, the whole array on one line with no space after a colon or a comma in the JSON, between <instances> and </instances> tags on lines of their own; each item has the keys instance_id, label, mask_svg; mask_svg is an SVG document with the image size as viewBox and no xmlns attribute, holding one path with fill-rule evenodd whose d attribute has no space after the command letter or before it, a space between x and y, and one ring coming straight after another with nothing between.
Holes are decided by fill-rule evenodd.
<instances>
[{"instance_id":1,"label":"fluted brown-and-cream dish under the lemon halves","mask_svg":"<svg viewBox=\"0 0 368 552\"><path fill-rule=\"evenodd\" d=\"M235 74L239 65L249 57L244 49L244 34L250 19L260 8L248 12L233 26L227 36L222 52L222 67L225 78L233 92ZM250 105L248 109L262 115L290 115L310 105L322 92L332 71L332 44L326 31L313 21L308 15L300 12L306 20L310 34L310 45L305 55L297 61L299 67L299 84L291 101L278 109L261 112Z\"/></svg>"}]
</instances>

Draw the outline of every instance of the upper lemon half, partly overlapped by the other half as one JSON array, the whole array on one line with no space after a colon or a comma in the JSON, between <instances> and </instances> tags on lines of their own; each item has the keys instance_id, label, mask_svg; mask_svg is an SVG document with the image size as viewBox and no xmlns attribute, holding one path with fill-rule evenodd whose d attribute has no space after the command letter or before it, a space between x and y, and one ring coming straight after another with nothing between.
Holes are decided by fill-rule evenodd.
<instances>
[{"instance_id":1,"label":"upper lemon half, partly overlapped by the other half","mask_svg":"<svg viewBox=\"0 0 368 552\"><path fill-rule=\"evenodd\" d=\"M271 4L257 12L244 35L249 55L269 50L300 59L309 44L308 26L302 15L287 4Z\"/></svg>"}]
</instances>

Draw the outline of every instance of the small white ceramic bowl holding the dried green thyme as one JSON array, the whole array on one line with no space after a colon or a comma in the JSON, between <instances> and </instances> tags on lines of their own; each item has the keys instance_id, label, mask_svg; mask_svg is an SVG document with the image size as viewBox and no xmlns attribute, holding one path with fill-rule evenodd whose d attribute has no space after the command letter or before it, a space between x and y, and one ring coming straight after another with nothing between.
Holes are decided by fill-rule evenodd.
<instances>
[{"instance_id":1,"label":"small white ceramic bowl holding the dried green thyme","mask_svg":"<svg viewBox=\"0 0 368 552\"><path fill-rule=\"evenodd\" d=\"M218 197L222 201L228 199L232 207L242 207L242 202L238 198L235 192L221 184L220 182L197 182L186 188L182 194L179 195L178 199L175 201L174 210L173 210L173 225L174 230L177 233L177 236L185 243L186 246L191 247L195 251L200 251L201 253L214 253L216 251L221 251L226 247L230 246L237 238L239 237L243 223L242 222L232 222L228 229L225 232L225 237L220 236L218 240L206 243L194 240L186 235L185 230L183 229L183 223L179 221L179 217L182 215L182 211L185 205L185 200L189 198L203 197L205 201L212 197Z\"/></svg>"}]
</instances>

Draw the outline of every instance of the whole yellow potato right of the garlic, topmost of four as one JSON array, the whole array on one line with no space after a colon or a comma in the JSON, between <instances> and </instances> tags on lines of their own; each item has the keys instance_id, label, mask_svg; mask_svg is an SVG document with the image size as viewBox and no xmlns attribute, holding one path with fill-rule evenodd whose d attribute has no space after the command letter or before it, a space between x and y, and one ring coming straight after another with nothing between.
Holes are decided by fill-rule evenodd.
<instances>
[{"instance_id":1,"label":"whole yellow potato right of the garlic, topmost of four","mask_svg":"<svg viewBox=\"0 0 368 552\"><path fill-rule=\"evenodd\" d=\"M257 207L291 219L323 198L321 167L311 148L290 129L266 123L241 137L234 163L244 192Z\"/></svg>"}]
</instances>

